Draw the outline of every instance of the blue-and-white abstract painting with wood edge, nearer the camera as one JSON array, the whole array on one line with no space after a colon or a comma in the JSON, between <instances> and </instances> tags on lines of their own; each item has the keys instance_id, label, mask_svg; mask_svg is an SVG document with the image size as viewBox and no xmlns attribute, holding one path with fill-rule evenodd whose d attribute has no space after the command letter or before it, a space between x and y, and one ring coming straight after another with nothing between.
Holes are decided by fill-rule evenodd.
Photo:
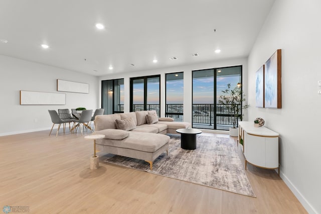
<instances>
[{"instance_id":1,"label":"blue-and-white abstract painting with wood edge, nearer the camera","mask_svg":"<svg viewBox=\"0 0 321 214\"><path fill-rule=\"evenodd\" d=\"M264 64L264 107L281 109L281 49Z\"/></svg>"}]
</instances>

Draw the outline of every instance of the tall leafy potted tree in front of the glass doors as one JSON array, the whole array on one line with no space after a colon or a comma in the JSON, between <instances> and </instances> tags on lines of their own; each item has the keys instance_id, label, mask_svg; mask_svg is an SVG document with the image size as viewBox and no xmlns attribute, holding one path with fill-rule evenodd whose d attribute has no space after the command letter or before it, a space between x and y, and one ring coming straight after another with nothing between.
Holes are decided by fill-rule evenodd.
<instances>
[{"instance_id":1,"label":"tall leafy potted tree in front of the glass doors","mask_svg":"<svg viewBox=\"0 0 321 214\"><path fill-rule=\"evenodd\" d=\"M219 103L225 105L226 112L231 116L233 127L230 128L230 136L237 137L237 121L242 120L241 110L249 108L250 105L242 104L245 101L245 94L239 86L232 88L231 83L228 83L227 88L222 92Z\"/></svg>"}]
</instances>

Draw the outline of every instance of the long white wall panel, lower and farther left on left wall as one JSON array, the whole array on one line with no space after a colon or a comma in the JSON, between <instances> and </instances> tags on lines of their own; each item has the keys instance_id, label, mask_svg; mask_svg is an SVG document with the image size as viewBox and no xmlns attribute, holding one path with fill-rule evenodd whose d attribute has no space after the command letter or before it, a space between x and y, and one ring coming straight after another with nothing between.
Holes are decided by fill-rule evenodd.
<instances>
[{"instance_id":1,"label":"long white wall panel, lower and farther left on left wall","mask_svg":"<svg viewBox=\"0 0 321 214\"><path fill-rule=\"evenodd\" d=\"M21 105L65 105L65 93L52 93L41 91L20 91Z\"/></svg>"}]
</instances>

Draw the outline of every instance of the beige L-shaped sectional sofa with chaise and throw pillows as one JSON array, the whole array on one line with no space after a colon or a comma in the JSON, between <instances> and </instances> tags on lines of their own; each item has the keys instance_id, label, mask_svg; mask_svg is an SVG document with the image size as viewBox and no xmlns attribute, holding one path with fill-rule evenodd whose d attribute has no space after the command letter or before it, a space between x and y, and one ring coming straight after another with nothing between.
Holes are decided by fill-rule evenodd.
<instances>
[{"instance_id":1,"label":"beige L-shaped sectional sofa with chaise and throw pillows","mask_svg":"<svg viewBox=\"0 0 321 214\"><path fill-rule=\"evenodd\" d=\"M96 140L96 149L102 152L142 159L150 164L169 148L167 133L190 128L186 122L158 118L155 111L140 111L95 117L94 134L105 135Z\"/></svg>"}]
</instances>

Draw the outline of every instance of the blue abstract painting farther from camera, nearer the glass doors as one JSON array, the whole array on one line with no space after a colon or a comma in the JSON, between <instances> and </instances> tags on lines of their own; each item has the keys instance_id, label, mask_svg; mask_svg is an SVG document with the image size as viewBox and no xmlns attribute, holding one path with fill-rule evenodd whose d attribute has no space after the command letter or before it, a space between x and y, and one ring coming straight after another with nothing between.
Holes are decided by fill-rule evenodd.
<instances>
[{"instance_id":1,"label":"blue abstract painting farther from camera, nearer the glass doors","mask_svg":"<svg viewBox=\"0 0 321 214\"><path fill-rule=\"evenodd\" d=\"M262 65L255 73L255 106L264 108L264 68Z\"/></svg>"}]
</instances>

